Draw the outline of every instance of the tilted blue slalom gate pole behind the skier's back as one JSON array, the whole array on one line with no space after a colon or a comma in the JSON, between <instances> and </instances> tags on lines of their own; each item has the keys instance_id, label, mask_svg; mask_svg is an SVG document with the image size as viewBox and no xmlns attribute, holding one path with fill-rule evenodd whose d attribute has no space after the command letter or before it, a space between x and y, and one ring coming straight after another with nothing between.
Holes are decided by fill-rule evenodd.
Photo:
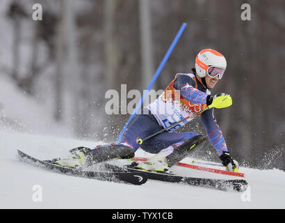
<instances>
[{"instance_id":1,"label":"tilted blue slalom gate pole behind the skier's back","mask_svg":"<svg viewBox=\"0 0 285 223\"><path fill-rule=\"evenodd\" d=\"M143 101L145 100L145 96L147 95L148 91L152 88L152 86L154 85L154 82L156 82L157 77L161 74L161 70L165 66L166 61L168 61L168 58L169 58L170 54L172 53L172 50L177 45L177 42L178 42L179 38L181 37L182 33L184 32L184 29L186 28L186 26L187 26L187 24L184 22L182 24L181 28L179 29L177 35L175 36L174 40L172 41L172 44L168 48L168 52L166 52L165 56L163 57L161 64L158 66L156 72L154 73L154 77L152 77L152 81L149 83L149 86L147 86L147 91L145 91L143 93L142 98L140 99L140 102L138 103L138 105L136 105L136 109L133 111L133 114L131 114L131 116L129 117L129 120L127 121L126 125L124 125L124 128L123 128L122 132L120 133L120 136L117 138L116 143L119 143L120 140L122 139L122 135L126 131L128 123L131 121L133 116L136 115L136 113L138 112L138 109L140 109Z\"/></svg>"}]
</instances>

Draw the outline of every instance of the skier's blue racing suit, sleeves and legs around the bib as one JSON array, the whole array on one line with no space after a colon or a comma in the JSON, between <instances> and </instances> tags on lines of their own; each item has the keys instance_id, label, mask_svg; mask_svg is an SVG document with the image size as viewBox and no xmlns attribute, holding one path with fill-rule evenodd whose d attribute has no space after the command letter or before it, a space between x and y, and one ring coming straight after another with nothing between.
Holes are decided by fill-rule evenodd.
<instances>
[{"instance_id":1,"label":"skier's blue racing suit, sleeves and legs around the bib","mask_svg":"<svg viewBox=\"0 0 285 223\"><path fill-rule=\"evenodd\" d=\"M201 108L201 105L204 107L206 106L206 97L209 95L209 91L197 81L195 75L177 75L172 81L172 89L180 91L181 101L185 100L190 102L192 103L191 105L195 105L195 107L200 106ZM166 127L164 125L165 121L161 116L155 114L152 106L145 107L142 114L136 114L127 125L127 130L124 132L119 144L129 146L134 152L140 147L148 153L159 153L160 151L164 151L165 153L170 154L176 146L184 144L185 140L191 139L197 135L196 132L178 133L165 131L161 134L157 134L151 139L147 139L139 145L138 139L144 139ZM222 131L215 120L213 108L203 112L200 117L206 130L206 134L208 134L209 141L218 152L218 155L222 155L222 151L227 151L227 145L222 136ZM181 127L181 125L179 125L178 128L179 127Z\"/></svg>"}]
</instances>

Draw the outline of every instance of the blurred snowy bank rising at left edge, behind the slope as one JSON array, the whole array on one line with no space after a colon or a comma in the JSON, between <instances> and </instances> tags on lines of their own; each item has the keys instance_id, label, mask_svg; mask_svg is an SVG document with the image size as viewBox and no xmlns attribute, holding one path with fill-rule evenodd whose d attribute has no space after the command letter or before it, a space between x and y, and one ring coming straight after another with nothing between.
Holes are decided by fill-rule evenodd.
<instances>
[{"instance_id":1,"label":"blurred snowy bank rising at left edge, behind the slope","mask_svg":"<svg viewBox=\"0 0 285 223\"><path fill-rule=\"evenodd\" d=\"M52 110L26 95L2 75L0 82L0 129L36 134L72 135L72 128L56 123Z\"/></svg>"}]
</instances>

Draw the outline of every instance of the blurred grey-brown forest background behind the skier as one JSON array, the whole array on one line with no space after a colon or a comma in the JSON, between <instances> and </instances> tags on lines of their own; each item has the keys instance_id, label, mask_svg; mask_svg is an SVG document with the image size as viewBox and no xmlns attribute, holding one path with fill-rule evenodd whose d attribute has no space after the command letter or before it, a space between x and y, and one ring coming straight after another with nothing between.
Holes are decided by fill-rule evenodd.
<instances>
[{"instance_id":1,"label":"blurred grey-brown forest background behind the skier","mask_svg":"<svg viewBox=\"0 0 285 223\"><path fill-rule=\"evenodd\" d=\"M42 21L32 19L34 3ZM243 3L251 20L241 20ZM191 72L201 49L222 52L227 71L211 92L233 98L215 111L229 151L250 167L285 169L284 0L10 0L5 13L11 62L2 72L53 107L58 122L72 122L76 137L106 142L129 118L106 114L106 91L127 84L142 93L186 22L153 89ZM185 130L205 134L199 120ZM209 143L196 155L218 160Z\"/></svg>"}]
</instances>

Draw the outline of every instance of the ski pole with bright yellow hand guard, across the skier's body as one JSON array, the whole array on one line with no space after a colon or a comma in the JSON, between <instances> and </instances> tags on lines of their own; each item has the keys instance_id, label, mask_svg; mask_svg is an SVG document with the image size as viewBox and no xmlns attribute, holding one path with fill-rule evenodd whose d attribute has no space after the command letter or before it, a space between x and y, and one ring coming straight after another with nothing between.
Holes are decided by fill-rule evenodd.
<instances>
[{"instance_id":1,"label":"ski pole with bright yellow hand guard, across the skier's body","mask_svg":"<svg viewBox=\"0 0 285 223\"><path fill-rule=\"evenodd\" d=\"M222 95L215 98L211 105L205 107L204 109L195 112L194 114L190 114L190 116L187 116L186 118L181 119L177 123L173 123L172 125L168 126L167 128L163 128L162 130L159 130L158 132L155 132L154 134L149 135L148 137L145 137L145 139L138 139L138 144L142 144L145 140L150 139L152 137L155 137L157 134L160 134L161 132L164 132L165 130L169 130L170 128L174 127L175 125L181 123L182 121L186 121L188 118L195 118L198 114L202 114L202 112L205 112L208 109L211 109L212 107L215 107L217 109L222 109L225 107L229 107L232 105L232 100L230 95Z\"/></svg>"}]
</instances>

